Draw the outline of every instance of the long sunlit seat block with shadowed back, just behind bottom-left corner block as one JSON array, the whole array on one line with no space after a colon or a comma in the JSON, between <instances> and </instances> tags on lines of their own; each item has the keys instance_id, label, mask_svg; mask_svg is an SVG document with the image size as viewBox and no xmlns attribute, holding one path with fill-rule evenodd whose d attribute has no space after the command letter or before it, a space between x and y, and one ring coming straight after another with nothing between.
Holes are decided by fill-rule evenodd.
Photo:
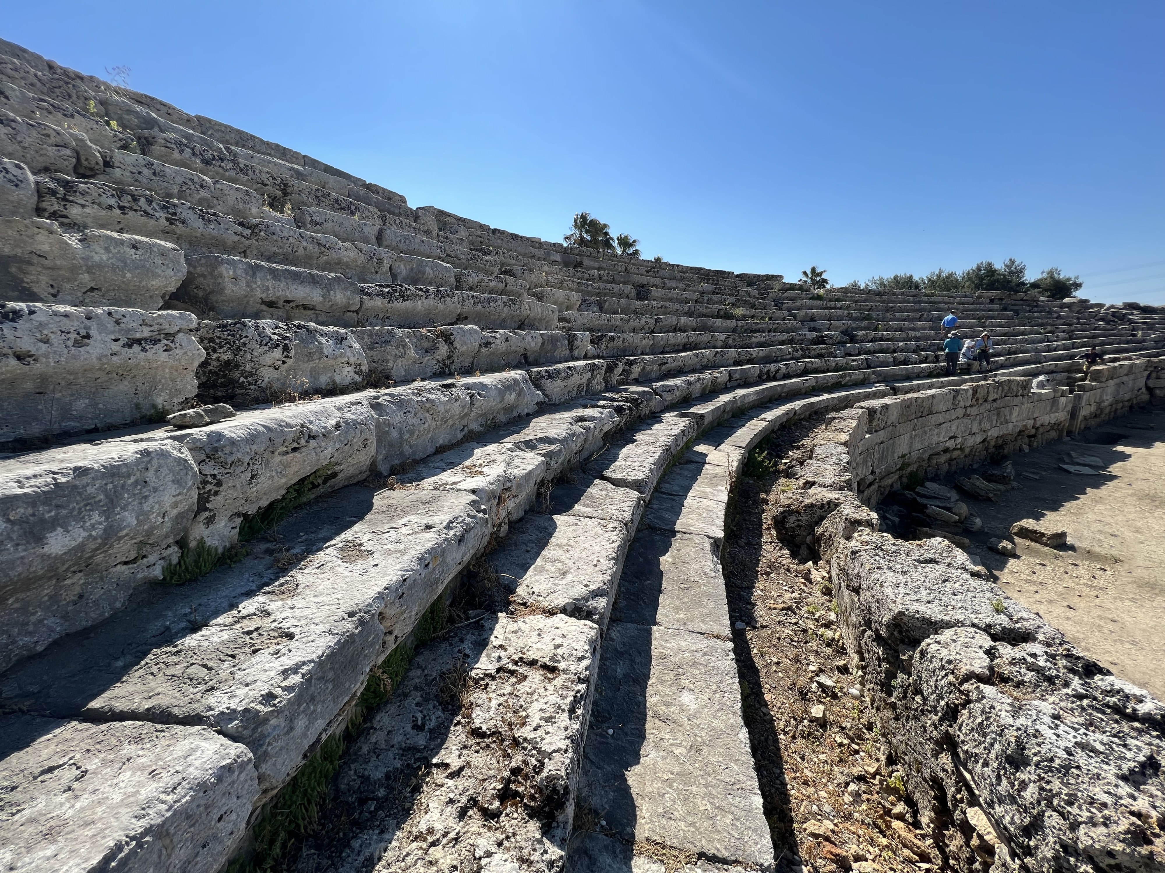
<instances>
[{"instance_id":1,"label":"long sunlit seat block with shadowed back, just behind bottom-left corner block","mask_svg":"<svg viewBox=\"0 0 1165 873\"><path fill-rule=\"evenodd\" d=\"M199 724L250 748L282 785L449 580L485 546L466 494L351 488L280 527L305 554L255 551L198 583L150 592L0 683L8 707L100 721ZM339 714L339 716L338 716Z\"/></svg>"}]
</instances>

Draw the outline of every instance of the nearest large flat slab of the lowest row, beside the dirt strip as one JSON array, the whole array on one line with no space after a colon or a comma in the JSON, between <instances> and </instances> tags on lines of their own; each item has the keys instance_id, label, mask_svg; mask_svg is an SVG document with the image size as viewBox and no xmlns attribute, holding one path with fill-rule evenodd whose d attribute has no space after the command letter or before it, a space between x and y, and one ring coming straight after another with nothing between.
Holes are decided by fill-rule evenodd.
<instances>
[{"instance_id":1,"label":"nearest large flat slab of the lowest row, beside the dirt strip","mask_svg":"<svg viewBox=\"0 0 1165 873\"><path fill-rule=\"evenodd\" d=\"M771 870L732 643L612 622L602 655L579 802L621 839Z\"/></svg>"}]
</instances>

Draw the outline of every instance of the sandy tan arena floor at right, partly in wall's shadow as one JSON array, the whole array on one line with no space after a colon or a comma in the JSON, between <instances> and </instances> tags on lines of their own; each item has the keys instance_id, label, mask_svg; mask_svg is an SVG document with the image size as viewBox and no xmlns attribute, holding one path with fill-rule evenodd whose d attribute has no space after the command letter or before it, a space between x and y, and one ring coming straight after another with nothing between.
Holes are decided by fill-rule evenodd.
<instances>
[{"instance_id":1,"label":"sandy tan arena floor at right, partly in wall's shadow","mask_svg":"<svg viewBox=\"0 0 1165 873\"><path fill-rule=\"evenodd\" d=\"M1061 469L1073 453L1100 460L1100 475ZM1134 412L1010 460L1018 489L998 503L966 501L984 523L970 535L983 566L1085 653L1165 700L1165 410ZM987 547L1011 539L1008 530L1023 518L1066 531L1068 547L1017 539L1010 559Z\"/></svg>"}]
</instances>

